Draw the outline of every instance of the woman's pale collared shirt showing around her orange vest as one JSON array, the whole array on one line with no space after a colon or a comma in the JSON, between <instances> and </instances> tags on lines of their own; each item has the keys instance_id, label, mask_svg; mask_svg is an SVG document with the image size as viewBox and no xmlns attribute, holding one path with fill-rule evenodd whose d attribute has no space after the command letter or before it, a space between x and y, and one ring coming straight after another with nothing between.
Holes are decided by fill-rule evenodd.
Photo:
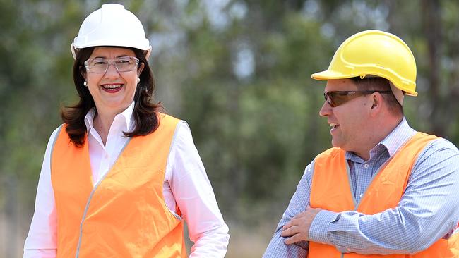
<instances>
[{"instance_id":1,"label":"woman's pale collared shirt showing around her orange vest","mask_svg":"<svg viewBox=\"0 0 459 258\"><path fill-rule=\"evenodd\" d=\"M95 109L85 116L93 181L96 184L112 168L121 150L129 141L123 131L133 128L134 103L115 116L104 146L93 128ZM35 213L24 245L24 257L56 257L56 204L51 183L50 160L54 130L47 145L35 200ZM189 257L225 257L229 241L228 227L218 209L212 186L193 143L191 130L180 121L167 159L163 194L167 207L184 217L189 238L194 242Z\"/></svg>"}]
</instances>

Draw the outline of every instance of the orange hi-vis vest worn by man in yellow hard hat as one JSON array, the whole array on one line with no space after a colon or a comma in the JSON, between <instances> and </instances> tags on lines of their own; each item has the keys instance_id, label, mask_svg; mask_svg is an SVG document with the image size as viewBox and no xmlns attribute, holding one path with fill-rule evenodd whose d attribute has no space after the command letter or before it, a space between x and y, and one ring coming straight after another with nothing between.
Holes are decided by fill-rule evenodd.
<instances>
[{"instance_id":1,"label":"orange hi-vis vest worn by man in yellow hard hat","mask_svg":"<svg viewBox=\"0 0 459 258\"><path fill-rule=\"evenodd\" d=\"M350 188L349 165L345 151L331 148L319 154L314 161L314 174L311 183L311 207L341 212L356 210L362 214L376 214L386 209L397 207L408 179L420 152L432 140L433 135L416 133L399 151L386 162L374 176L359 204L355 204ZM347 180L346 180L347 178ZM448 240L440 239L417 254L357 254L340 253L332 245L309 242L309 258L357 258L357 257L391 257L391 258L453 258L459 257L459 234ZM417 236L413 236L416 238Z\"/></svg>"}]
</instances>

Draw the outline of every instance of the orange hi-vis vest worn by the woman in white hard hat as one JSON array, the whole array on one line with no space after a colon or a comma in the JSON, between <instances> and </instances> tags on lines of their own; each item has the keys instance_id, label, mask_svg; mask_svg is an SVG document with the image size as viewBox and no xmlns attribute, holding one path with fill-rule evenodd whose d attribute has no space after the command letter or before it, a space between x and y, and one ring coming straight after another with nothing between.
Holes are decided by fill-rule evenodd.
<instances>
[{"instance_id":1,"label":"orange hi-vis vest worn by the woman in white hard hat","mask_svg":"<svg viewBox=\"0 0 459 258\"><path fill-rule=\"evenodd\" d=\"M157 116L157 130L132 137L96 185L87 135L76 147L61 127L51 160L57 257L186 257L183 221L162 195L179 120Z\"/></svg>"}]
</instances>

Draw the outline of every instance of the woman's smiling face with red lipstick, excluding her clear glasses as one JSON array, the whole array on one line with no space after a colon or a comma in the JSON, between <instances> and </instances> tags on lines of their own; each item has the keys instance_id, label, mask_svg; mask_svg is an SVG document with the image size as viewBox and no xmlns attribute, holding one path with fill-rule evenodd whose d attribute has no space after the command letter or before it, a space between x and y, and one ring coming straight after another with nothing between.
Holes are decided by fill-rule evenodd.
<instances>
[{"instance_id":1,"label":"woman's smiling face with red lipstick, excluding her clear glasses","mask_svg":"<svg viewBox=\"0 0 459 258\"><path fill-rule=\"evenodd\" d=\"M136 55L131 49L121 47L96 47L89 59L114 59L121 56ZM142 63L138 69L120 73L110 64L105 73L86 71L83 74L98 113L121 113L133 102L137 78L143 66Z\"/></svg>"}]
</instances>

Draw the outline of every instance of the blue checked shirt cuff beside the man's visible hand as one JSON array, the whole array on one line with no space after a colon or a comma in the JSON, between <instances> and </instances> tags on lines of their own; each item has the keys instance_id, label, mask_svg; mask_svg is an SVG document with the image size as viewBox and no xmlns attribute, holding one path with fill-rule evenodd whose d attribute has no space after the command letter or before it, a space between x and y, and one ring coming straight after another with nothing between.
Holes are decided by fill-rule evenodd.
<instances>
[{"instance_id":1,"label":"blue checked shirt cuff beside the man's visible hand","mask_svg":"<svg viewBox=\"0 0 459 258\"><path fill-rule=\"evenodd\" d=\"M335 221L338 215L338 213L325 209L319 211L309 228L309 240L321 244L332 244L328 239L328 228L330 227L330 223Z\"/></svg>"}]
</instances>

